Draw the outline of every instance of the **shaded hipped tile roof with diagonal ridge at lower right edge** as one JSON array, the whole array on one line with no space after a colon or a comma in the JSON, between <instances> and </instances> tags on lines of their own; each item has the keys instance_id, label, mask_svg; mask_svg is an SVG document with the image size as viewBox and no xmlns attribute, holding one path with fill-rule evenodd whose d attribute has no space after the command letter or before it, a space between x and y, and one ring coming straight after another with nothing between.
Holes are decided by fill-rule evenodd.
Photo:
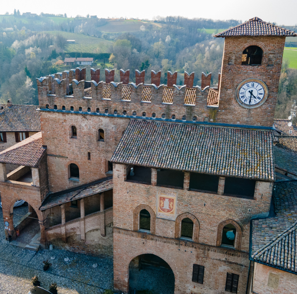
<instances>
[{"instance_id":1,"label":"shaded hipped tile roof with diagonal ridge at lower right edge","mask_svg":"<svg viewBox=\"0 0 297 294\"><path fill-rule=\"evenodd\" d=\"M275 183L276 217L252 222L251 259L297 273L297 182Z\"/></svg>"}]
</instances>

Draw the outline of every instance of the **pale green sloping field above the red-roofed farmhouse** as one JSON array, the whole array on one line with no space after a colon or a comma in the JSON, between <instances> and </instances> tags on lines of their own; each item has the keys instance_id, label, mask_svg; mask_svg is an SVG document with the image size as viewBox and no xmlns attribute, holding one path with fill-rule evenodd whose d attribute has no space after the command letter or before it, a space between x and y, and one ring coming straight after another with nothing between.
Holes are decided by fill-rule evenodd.
<instances>
[{"instance_id":1,"label":"pale green sloping field above the red-roofed farmhouse","mask_svg":"<svg viewBox=\"0 0 297 294\"><path fill-rule=\"evenodd\" d=\"M67 33L61 31L44 31L42 33L50 35L62 35L67 40L75 40L75 44L69 44L65 52L86 52L86 53L106 53L108 47L113 44L112 41L86 36L79 33Z\"/></svg>"}]
</instances>

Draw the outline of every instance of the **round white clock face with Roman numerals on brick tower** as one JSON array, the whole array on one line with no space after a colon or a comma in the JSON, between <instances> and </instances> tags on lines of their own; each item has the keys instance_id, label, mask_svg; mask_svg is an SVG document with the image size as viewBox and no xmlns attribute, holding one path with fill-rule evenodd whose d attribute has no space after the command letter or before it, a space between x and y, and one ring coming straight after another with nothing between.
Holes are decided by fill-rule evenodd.
<instances>
[{"instance_id":1,"label":"round white clock face with Roman numerals on brick tower","mask_svg":"<svg viewBox=\"0 0 297 294\"><path fill-rule=\"evenodd\" d=\"M242 81L235 91L237 102L244 108L256 108L262 105L268 97L266 84L258 79Z\"/></svg>"}]
</instances>

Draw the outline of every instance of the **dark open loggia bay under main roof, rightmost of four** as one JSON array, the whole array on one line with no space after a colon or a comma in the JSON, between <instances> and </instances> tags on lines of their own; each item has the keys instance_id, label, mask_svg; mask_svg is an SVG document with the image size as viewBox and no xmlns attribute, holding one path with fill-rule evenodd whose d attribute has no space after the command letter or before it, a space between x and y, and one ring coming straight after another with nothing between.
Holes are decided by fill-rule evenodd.
<instances>
[{"instance_id":1,"label":"dark open loggia bay under main roof, rightmost of four","mask_svg":"<svg viewBox=\"0 0 297 294\"><path fill-rule=\"evenodd\" d=\"M255 180L227 177L225 179L224 195L239 195L253 198L255 186Z\"/></svg>"}]
</instances>

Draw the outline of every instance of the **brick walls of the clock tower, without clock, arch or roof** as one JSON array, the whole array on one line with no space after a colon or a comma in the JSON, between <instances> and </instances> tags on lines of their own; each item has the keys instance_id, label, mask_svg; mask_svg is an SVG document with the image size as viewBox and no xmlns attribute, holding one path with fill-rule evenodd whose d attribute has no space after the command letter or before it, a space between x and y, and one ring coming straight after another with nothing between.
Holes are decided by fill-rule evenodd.
<instances>
[{"instance_id":1,"label":"brick walls of the clock tower, without clock, arch or roof","mask_svg":"<svg viewBox=\"0 0 297 294\"><path fill-rule=\"evenodd\" d=\"M252 45L259 46L263 50L262 63L254 66L242 65L243 50ZM229 123L232 124L270 127L273 125L284 45L285 37L225 38L217 122L228 118ZM273 64L268 63L271 56L274 59ZM234 62L230 60L231 57L234 58ZM266 102L253 109L240 106L235 99L236 87L248 78L264 81L269 93Z\"/></svg>"}]
</instances>

